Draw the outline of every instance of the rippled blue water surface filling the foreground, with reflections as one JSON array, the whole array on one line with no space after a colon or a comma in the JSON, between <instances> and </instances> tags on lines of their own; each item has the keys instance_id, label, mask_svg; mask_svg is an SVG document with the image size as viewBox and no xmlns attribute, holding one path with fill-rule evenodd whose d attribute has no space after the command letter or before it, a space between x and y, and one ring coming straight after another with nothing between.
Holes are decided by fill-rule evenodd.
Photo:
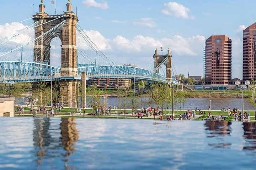
<instances>
[{"instance_id":1,"label":"rippled blue water surface filling the foreground, with reflections","mask_svg":"<svg viewBox=\"0 0 256 170\"><path fill-rule=\"evenodd\" d=\"M256 123L0 118L0 169L254 169Z\"/></svg>"}]
</instances>

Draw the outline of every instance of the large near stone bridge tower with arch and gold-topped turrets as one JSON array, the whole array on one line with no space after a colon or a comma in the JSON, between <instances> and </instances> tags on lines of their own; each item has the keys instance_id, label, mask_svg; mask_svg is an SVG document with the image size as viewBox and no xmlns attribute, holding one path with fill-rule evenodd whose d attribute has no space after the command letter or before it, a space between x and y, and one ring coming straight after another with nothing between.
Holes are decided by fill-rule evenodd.
<instances>
[{"instance_id":1,"label":"large near stone bridge tower with arch and gold-topped turrets","mask_svg":"<svg viewBox=\"0 0 256 170\"><path fill-rule=\"evenodd\" d=\"M78 17L72 12L72 4L70 0L66 4L67 11L63 15L48 15L45 13L45 5L43 0L42 4L39 5L39 13L33 16L34 22L42 24L35 29L35 38L46 33L48 30L57 26L59 23L66 20L63 25L62 31L59 34L59 38L62 42L61 50L61 63L62 68L60 75L62 80L60 81L60 91L63 96L64 106L70 106L77 98L77 84L78 84L78 69L77 69L77 48L76 48L76 24ZM58 19L57 19L58 18ZM54 21L52 21L54 20ZM51 22L49 22L51 21ZM43 24L45 23L45 24ZM57 35L56 35L57 36ZM51 36L51 39L55 38ZM44 38L38 39L34 45L34 62L46 62L50 64L50 41L44 40ZM32 84L33 90L33 84Z\"/></svg>"}]
</instances>

